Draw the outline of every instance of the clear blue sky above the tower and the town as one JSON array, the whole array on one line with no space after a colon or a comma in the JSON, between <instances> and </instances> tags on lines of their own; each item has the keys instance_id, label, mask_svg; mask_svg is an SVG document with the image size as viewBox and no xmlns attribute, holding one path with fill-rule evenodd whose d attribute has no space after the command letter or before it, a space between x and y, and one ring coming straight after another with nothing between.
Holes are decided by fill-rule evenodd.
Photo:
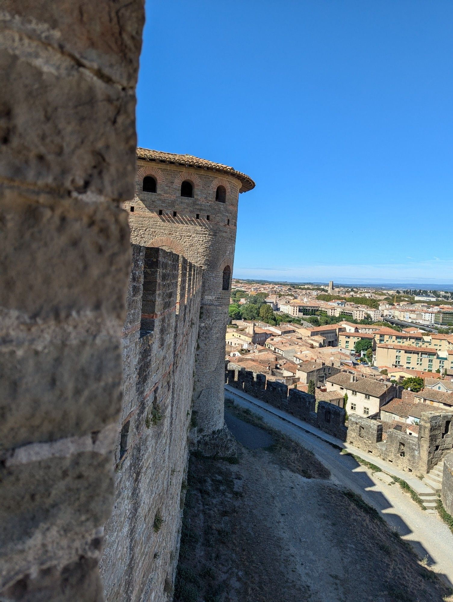
<instances>
[{"instance_id":1,"label":"clear blue sky above the tower and the town","mask_svg":"<svg viewBox=\"0 0 453 602\"><path fill-rule=\"evenodd\" d=\"M137 95L257 183L234 276L453 282L453 0L148 0Z\"/></svg>"}]
</instances>

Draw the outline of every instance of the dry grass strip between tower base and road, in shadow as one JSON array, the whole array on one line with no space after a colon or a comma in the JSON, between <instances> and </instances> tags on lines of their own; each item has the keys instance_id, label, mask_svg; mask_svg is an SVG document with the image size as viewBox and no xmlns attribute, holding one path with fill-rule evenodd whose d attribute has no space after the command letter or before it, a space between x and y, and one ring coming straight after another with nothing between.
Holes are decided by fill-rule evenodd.
<instances>
[{"instance_id":1,"label":"dry grass strip between tower base and road, in shadow","mask_svg":"<svg viewBox=\"0 0 453 602\"><path fill-rule=\"evenodd\" d=\"M293 441L280 430L273 429L250 409L242 408L228 398L225 399L225 407L236 418L252 424L258 429L263 429L272 436L273 444L266 448L266 451L273 453L285 468L307 479L328 479L330 477L330 472L313 452Z\"/></svg>"}]
</instances>

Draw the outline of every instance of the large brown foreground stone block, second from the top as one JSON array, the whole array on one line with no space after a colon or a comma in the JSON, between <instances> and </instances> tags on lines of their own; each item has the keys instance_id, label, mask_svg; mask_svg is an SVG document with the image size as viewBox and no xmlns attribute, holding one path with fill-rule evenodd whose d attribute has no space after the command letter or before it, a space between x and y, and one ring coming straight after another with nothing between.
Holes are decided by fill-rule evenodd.
<instances>
[{"instance_id":1,"label":"large brown foreground stone block, second from the top","mask_svg":"<svg viewBox=\"0 0 453 602\"><path fill-rule=\"evenodd\" d=\"M134 93L45 45L30 48L16 34L5 43L8 50L0 50L0 70L8 82L0 106L0 177L61 193L130 199Z\"/></svg>"}]
</instances>

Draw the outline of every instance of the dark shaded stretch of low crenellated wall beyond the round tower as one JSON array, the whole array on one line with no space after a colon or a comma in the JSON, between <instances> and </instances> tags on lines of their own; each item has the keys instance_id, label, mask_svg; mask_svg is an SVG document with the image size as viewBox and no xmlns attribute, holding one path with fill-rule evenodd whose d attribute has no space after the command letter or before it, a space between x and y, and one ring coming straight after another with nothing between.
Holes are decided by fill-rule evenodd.
<instances>
[{"instance_id":1,"label":"dark shaded stretch of low crenellated wall beyond the round tower","mask_svg":"<svg viewBox=\"0 0 453 602\"><path fill-rule=\"evenodd\" d=\"M319 402L315 412L316 400L313 395L295 388L288 389L287 385L276 380L267 380L264 374L245 370L234 362L226 362L225 367L225 383L228 385L346 441L346 412L343 408L332 403Z\"/></svg>"}]
</instances>

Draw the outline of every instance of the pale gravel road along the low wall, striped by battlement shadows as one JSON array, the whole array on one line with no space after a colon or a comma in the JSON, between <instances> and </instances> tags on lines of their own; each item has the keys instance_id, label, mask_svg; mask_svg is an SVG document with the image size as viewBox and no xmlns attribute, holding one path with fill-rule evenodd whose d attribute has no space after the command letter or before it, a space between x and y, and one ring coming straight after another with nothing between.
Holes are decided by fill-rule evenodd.
<instances>
[{"instance_id":1,"label":"pale gravel road along the low wall, striped by battlement shadows","mask_svg":"<svg viewBox=\"0 0 453 602\"><path fill-rule=\"evenodd\" d=\"M239 395L230 387L225 389L225 396L243 408L251 409L267 424L313 451L330 470L334 483L352 489L374 506L384 520L410 542L420 559L426 557L428 566L453 586L453 533L437 514L423 511L396 483L382 482L377 476L380 473L373 475L351 456L341 454L323 439L273 414L272 406L256 400L260 406L266 406L263 409L252 402L253 397L243 392ZM285 412L279 412L285 415ZM287 419L293 420L293 417L287 414ZM373 462L372 456L370 462Z\"/></svg>"}]
</instances>

